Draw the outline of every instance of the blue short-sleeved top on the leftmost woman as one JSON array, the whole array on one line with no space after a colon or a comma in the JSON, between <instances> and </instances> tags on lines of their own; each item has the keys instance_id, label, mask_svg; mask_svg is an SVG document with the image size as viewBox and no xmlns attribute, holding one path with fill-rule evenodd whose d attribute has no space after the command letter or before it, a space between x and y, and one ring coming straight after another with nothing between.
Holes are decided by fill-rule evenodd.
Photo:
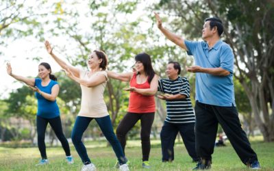
<instances>
[{"instance_id":1,"label":"blue short-sleeved top on the leftmost woman","mask_svg":"<svg viewBox=\"0 0 274 171\"><path fill-rule=\"evenodd\" d=\"M35 86L37 86L42 92L51 94L51 88L58 84L56 81L51 80L47 86L42 86L42 79L35 79ZM60 115L59 107L55 101L49 101L40 95L38 92L35 93L38 101L37 116L42 118L55 118Z\"/></svg>"}]
</instances>

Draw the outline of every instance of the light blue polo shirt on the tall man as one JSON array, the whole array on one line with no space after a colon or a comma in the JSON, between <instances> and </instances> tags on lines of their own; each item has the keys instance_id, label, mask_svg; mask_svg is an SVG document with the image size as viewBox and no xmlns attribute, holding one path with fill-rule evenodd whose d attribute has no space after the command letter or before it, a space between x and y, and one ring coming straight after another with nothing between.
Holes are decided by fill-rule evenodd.
<instances>
[{"instance_id":1,"label":"light blue polo shirt on the tall man","mask_svg":"<svg viewBox=\"0 0 274 171\"><path fill-rule=\"evenodd\" d=\"M216 76L207 73L196 73L196 101L216 106L236 106L233 84L234 54L228 44L219 40L209 49L206 42L188 41L184 43L188 55L193 55L195 65L203 68L223 68L229 75Z\"/></svg>"}]
</instances>

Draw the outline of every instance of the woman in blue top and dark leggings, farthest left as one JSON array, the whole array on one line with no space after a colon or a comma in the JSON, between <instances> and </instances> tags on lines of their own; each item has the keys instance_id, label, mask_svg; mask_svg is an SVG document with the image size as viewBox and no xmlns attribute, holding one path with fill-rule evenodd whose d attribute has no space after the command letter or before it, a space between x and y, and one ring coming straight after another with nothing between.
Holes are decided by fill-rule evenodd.
<instances>
[{"instance_id":1,"label":"woman in blue top and dark leggings, farthest left","mask_svg":"<svg viewBox=\"0 0 274 171\"><path fill-rule=\"evenodd\" d=\"M49 163L45 146L45 132L48 123L51 125L51 128L55 132L55 135L58 137L62 147L64 148L64 152L66 153L66 161L68 163L73 163L69 142L66 140L62 130L59 107L56 103L56 98L59 93L59 86L56 82L57 78L54 75L51 75L51 66L46 62L39 64L39 78L27 78L14 75L14 73L12 73L12 66L10 63L7 64L7 73L11 77L14 77L14 79L27 84L27 86L36 92L35 94L38 101L36 127L38 134L38 148L42 158L37 165L44 165Z\"/></svg>"}]
</instances>

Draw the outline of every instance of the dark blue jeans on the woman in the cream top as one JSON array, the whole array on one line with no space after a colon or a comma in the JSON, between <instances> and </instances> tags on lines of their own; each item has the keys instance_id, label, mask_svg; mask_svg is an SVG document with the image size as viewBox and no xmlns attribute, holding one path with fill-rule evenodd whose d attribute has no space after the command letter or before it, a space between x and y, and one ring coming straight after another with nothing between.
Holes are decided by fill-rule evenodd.
<instances>
[{"instance_id":1,"label":"dark blue jeans on the woman in the cream top","mask_svg":"<svg viewBox=\"0 0 274 171\"><path fill-rule=\"evenodd\" d=\"M73 131L71 133L71 140L73 141L77 153L81 157L83 163L90 163L90 159L88 157L88 153L86 152L86 147L82 142L82 136L84 131L86 131L88 124L90 124L90 121L93 119L96 120L101 131L103 132L103 135L105 135L105 138L108 140L108 142L110 142L114 150L114 153L116 154L116 157L119 160L119 163L126 163L127 159L125 158L120 142L114 134L110 116L104 116L102 118L89 118L84 116L77 116L73 127Z\"/></svg>"}]
</instances>

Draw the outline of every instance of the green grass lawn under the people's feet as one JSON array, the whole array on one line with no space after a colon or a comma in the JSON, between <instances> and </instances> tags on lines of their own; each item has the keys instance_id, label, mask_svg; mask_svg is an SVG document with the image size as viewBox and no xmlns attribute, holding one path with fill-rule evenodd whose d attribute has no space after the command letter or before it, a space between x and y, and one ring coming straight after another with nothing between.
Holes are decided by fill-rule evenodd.
<instances>
[{"instance_id":1,"label":"green grass lawn under the people's feet","mask_svg":"<svg viewBox=\"0 0 274 171\"><path fill-rule=\"evenodd\" d=\"M116 170L114 169L116 157L112 148L106 147L105 142L86 142L86 146L88 155L97 170ZM274 143L251 140L251 146L258 154L262 170L274 170ZM51 147L47 148L50 164L38 167L35 166L40 157L38 148L0 147L0 170L81 170L82 162L72 145L71 151L75 159L73 165L66 163L61 147ZM129 169L142 170L140 141L128 141L125 153L130 161ZM182 142L175 144L175 161L173 163L162 163L161 157L160 140L151 141L151 170L192 170L196 165L192 163ZM229 143L225 147L214 149L212 161L211 170L249 170L241 163Z\"/></svg>"}]
</instances>

